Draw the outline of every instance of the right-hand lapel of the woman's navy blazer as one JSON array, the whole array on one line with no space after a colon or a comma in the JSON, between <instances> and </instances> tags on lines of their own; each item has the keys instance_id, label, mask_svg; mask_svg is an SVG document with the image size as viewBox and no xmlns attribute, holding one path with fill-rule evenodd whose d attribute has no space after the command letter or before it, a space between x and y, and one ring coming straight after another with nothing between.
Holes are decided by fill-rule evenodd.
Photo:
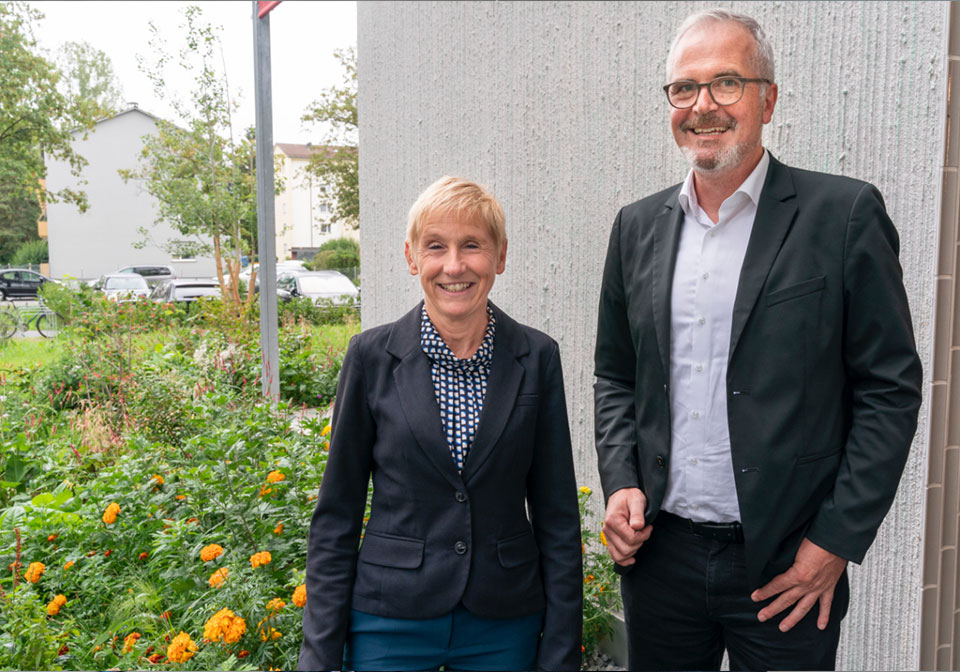
<instances>
[{"instance_id":1,"label":"right-hand lapel of the woman's navy blazer","mask_svg":"<svg viewBox=\"0 0 960 672\"><path fill-rule=\"evenodd\" d=\"M493 304L491 303L493 306ZM493 306L497 331L493 344L493 361L487 379L487 394L483 400L480 423L473 437L473 445L463 464L463 480L476 474L493 453L503 428L513 412L523 380L524 369L517 358L529 352L527 337L512 318Z\"/></svg>"}]
</instances>

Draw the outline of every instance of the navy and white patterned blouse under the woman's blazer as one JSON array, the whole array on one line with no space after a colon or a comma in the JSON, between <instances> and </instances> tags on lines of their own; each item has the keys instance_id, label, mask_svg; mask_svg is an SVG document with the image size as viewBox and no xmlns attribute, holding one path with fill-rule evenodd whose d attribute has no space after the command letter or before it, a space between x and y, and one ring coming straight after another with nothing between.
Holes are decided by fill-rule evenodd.
<instances>
[{"instance_id":1,"label":"navy and white patterned blouse under the woman's blazer","mask_svg":"<svg viewBox=\"0 0 960 672\"><path fill-rule=\"evenodd\" d=\"M463 471L487 394L497 323L490 306L487 306L487 317L483 342L470 359L458 359L447 347L427 316L426 306L420 317L420 347L430 358L430 377L440 406L440 421L458 472Z\"/></svg>"}]
</instances>

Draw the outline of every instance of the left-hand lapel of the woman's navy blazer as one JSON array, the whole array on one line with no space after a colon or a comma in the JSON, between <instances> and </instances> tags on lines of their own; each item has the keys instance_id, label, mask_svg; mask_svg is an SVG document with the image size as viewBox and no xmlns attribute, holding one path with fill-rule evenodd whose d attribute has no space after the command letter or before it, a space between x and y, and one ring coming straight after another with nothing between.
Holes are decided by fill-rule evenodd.
<instances>
[{"instance_id":1,"label":"left-hand lapel of the woman's navy blazer","mask_svg":"<svg viewBox=\"0 0 960 672\"><path fill-rule=\"evenodd\" d=\"M450 455L440 421L440 407L430 378L430 358L420 349L423 303L401 317L387 340L387 351L400 359L393 370L400 407L420 448L437 470L457 488L463 482Z\"/></svg>"}]
</instances>

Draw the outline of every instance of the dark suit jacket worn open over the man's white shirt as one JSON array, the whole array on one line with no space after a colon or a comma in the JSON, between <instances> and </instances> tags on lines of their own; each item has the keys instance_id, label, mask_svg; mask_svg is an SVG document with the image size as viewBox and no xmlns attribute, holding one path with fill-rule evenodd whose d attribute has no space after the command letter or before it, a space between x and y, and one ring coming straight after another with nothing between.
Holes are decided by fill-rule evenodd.
<instances>
[{"instance_id":1,"label":"dark suit jacket worn open over the man's white shirt","mask_svg":"<svg viewBox=\"0 0 960 672\"><path fill-rule=\"evenodd\" d=\"M604 496L641 488L653 534L670 462L679 193L671 187L617 215L597 328ZM790 567L804 536L861 562L893 501L921 399L898 252L875 187L771 157L726 381L747 570L758 587Z\"/></svg>"}]
</instances>

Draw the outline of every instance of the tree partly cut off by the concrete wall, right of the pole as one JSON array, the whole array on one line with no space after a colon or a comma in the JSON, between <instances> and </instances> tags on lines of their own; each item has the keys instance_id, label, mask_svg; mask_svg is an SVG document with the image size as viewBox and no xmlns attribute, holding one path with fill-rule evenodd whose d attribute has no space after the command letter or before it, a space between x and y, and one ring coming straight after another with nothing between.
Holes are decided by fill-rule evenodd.
<instances>
[{"instance_id":1,"label":"tree partly cut off by the concrete wall, right of the pole","mask_svg":"<svg viewBox=\"0 0 960 672\"><path fill-rule=\"evenodd\" d=\"M338 49L334 57L343 66L343 85L330 87L307 106L301 121L327 126L326 151L314 152L307 171L331 186L322 197L330 218L348 226L360 224L360 180L357 127L357 52Z\"/></svg>"}]
</instances>

